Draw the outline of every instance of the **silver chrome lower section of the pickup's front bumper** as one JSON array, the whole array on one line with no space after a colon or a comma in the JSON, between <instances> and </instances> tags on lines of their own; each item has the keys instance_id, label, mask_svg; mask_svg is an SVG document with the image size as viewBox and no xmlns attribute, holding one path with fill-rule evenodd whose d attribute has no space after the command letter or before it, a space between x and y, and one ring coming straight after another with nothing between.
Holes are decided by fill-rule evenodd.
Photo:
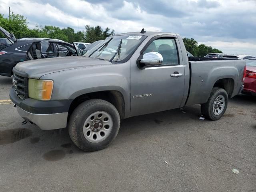
<instances>
[{"instance_id":1,"label":"silver chrome lower section of the pickup's front bumper","mask_svg":"<svg viewBox=\"0 0 256 192\"><path fill-rule=\"evenodd\" d=\"M54 114L33 114L17 106L17 111L26 121L31 121L42 130L65 128L67 126L68 112Z\"/></svg>"}]
</instances>

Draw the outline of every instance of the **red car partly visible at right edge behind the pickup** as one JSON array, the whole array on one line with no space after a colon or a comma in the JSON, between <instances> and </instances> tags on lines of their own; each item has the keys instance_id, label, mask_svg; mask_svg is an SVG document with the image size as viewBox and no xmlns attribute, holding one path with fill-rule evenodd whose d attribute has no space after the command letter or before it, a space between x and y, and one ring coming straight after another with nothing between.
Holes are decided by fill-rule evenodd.
<instances>
[{"instance_id":1,"label":"red car partly visible at right edge behind the pickup","mask_svg":"<svg viewBox=\"0 0 256 192\"><path fill-rule=\"evenodd\" d=\"M243 93L256 96L256 59L246 60L246 78Z\"/></svg>"}]
</instances>

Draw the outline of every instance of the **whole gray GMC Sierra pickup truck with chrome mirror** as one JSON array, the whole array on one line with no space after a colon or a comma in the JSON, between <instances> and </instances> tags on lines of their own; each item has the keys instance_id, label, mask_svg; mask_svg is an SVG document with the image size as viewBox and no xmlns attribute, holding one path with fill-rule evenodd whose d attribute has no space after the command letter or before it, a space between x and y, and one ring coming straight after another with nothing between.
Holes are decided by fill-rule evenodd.
<instances>
[{"instance_id":1,"label":"whole gray GMC Sierra pickup truck with chrome mirror","mask_svg":"<svg viewBox=\"0 0 256 192\"><path fill-rule=\"evenodd\" d=\"M188 60L180 35L133 32L106 38L83 56L21 62L10 99L42 130L68 127L78 148L106 148L120 119L201 104L218 120L243 89L245 62ZM156 128L157 129L157 128Z\"/></svg>"}]
</instances>

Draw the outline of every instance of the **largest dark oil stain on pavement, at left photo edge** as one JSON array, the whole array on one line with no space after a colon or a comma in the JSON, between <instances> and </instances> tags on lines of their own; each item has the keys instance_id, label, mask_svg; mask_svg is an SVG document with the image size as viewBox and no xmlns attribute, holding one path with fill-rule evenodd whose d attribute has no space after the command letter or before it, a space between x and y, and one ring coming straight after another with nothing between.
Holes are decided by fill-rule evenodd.
<instances>
[{"instance_id":1,"label":"largest dark oil stain on pavement, at left photo edge","mask_svg":"<svg viewBox=\"0 0 256 192\"><path fill-rule=\"evenodd\" d=\"M16 128L0 131L0 145L14 143L32 135L32 131L26 128Z\"/></svg>"}]
</instances>

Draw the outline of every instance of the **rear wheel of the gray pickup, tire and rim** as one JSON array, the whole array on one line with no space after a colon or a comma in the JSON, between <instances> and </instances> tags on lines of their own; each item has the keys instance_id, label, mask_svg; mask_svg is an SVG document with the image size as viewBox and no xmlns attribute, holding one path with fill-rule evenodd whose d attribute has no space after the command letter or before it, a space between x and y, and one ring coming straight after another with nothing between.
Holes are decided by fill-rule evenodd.
<instances>
[{"instance_id":1,"label":"rear wheel of the gray pickup, tire and rim","mask_svg":"<svg viewBox=\"0 0 256 192\"><path fill-rule=\"evenodd\" d=\"M225 113L228 106L228 94L226 90L214 87L208 101L201 104L202 114L209 120L218 120Z\"/></svg>"}]
</instances>

